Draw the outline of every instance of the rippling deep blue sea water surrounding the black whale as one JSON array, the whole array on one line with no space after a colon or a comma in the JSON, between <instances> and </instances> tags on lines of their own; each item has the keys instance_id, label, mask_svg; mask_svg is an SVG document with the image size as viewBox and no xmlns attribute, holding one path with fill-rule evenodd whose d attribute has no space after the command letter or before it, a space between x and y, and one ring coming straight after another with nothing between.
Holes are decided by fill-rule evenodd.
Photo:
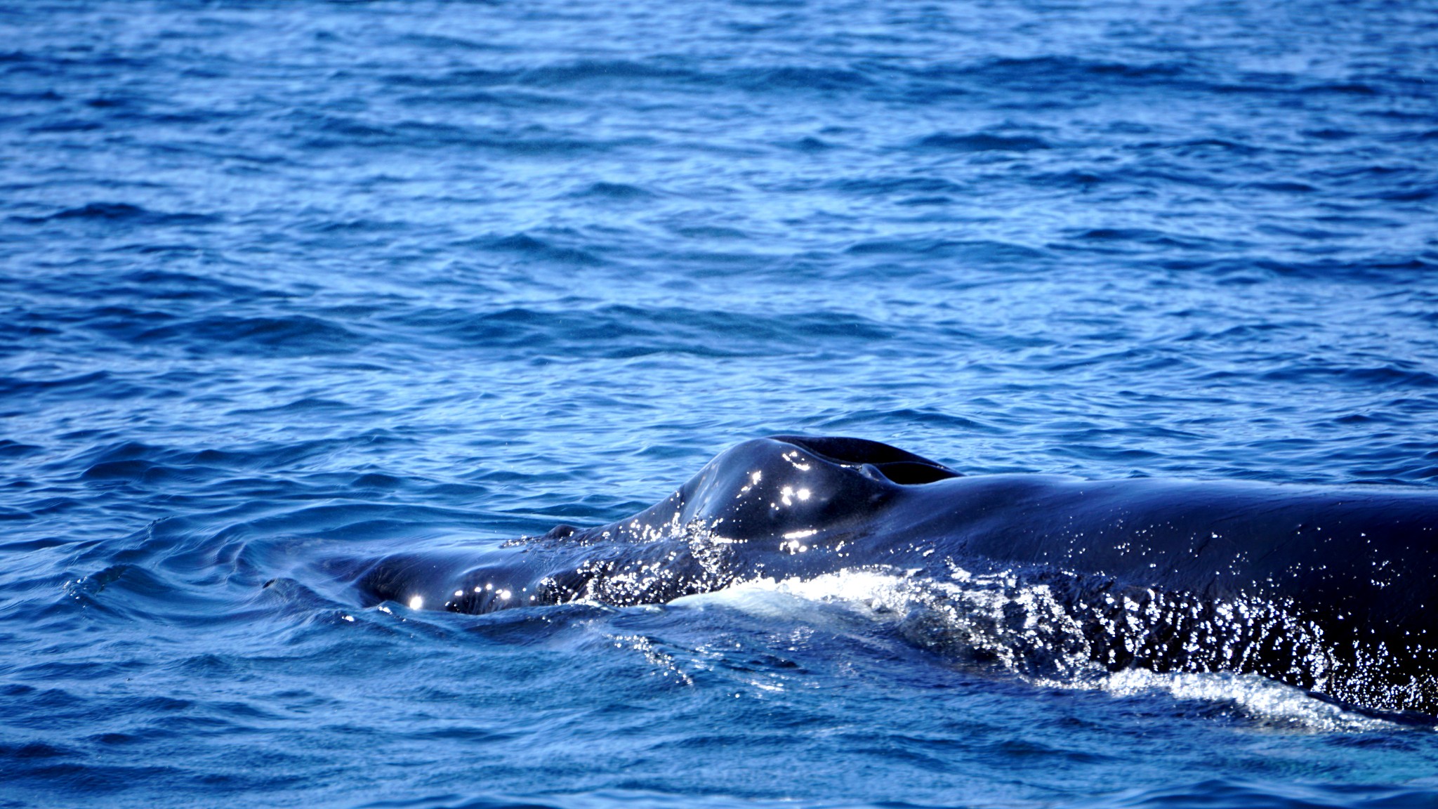
<instances>
[{"instance_id":1,"label":"rippling deep blue sea water surrounding the black whale","mask_svg":"<svg viewBox=\"0 0 1438 809\"><path fill-rule=\"evenodd\" d=\"M0 7L0 806L1438 806L1432 727L1025 677L876 573L313 564L778 432L1431 491L1435 76L1426 0Z\"/></svg>"}]
</instances>

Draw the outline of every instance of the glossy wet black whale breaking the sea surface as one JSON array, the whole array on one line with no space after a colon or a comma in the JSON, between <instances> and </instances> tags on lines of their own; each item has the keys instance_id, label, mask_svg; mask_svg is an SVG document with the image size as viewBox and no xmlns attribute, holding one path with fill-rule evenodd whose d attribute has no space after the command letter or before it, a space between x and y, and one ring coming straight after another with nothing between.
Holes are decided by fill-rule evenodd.
<instances>
[{"instance_id":1,"label":"glossy wet black whale breaking the sea surface","mask_svg":"<svg viewBox=\"0 0 1438 809\"><path fill-rule=\"evenodd\" d=\"M393 556L357 584L370 603L482 613L854 569L1002 582L999 618L971 631L1107 669L1255 672L1438 714L1438 492L1422 489L963 476L883 443L775 436L628 520ZM945 593L962 612L962 587Z\"/></svg>"}]
</instances>

